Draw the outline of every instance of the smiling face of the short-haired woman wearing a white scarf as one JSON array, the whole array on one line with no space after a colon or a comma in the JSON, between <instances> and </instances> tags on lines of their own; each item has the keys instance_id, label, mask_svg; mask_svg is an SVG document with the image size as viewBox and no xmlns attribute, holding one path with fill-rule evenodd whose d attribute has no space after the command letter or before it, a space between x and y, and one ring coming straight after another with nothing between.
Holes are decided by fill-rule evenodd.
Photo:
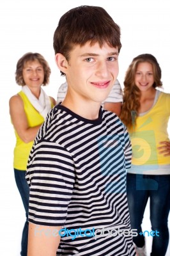
<instances>
[{"instance_id":1,"label":"smiling face of the short-haired woman wearing a white scarf","mask_svg":"<svg viewBox=\"0 0 170 256\"><path fill-rule=\"evenodd\" d=\"M22 70L22 76L26 85L31 88L39 88L43 84L44 70L38 60L27 61Z\"/></svg>"}]
</instances>

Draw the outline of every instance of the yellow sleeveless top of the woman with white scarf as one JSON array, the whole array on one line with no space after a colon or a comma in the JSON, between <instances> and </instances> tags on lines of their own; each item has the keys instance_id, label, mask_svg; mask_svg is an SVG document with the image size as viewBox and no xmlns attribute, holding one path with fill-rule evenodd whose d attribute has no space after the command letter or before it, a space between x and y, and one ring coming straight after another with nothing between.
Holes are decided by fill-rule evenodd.
<instances>
[{"instance_id":1,"label":"yellow sleeveless top of the woman with white scarf","mask_svg":"<svg viewBox=\"0 0 170 256\"><path fill-rule=\"evenodd\" d=\"M20 97L22 98L24 102L24 111L26 112L27 116L27 123L29 127L35 127L37 125L41 125L44 122L44 118L36 109L33 107L33 105L29 102L29 99L27 99L24 92L18 93ZM53 104L51 102L51 108L53 107ZM16 136L16 145L14 148L14 159L13 159L13 167L18 170L26 170L27 167L27 159L29 157L29 152L31 148L33 147L34 141L30 141L29 143L25 143L22 141L19 137L19 134L17 134L17 131L15 131Z\"/></svg>"}]
</instances>

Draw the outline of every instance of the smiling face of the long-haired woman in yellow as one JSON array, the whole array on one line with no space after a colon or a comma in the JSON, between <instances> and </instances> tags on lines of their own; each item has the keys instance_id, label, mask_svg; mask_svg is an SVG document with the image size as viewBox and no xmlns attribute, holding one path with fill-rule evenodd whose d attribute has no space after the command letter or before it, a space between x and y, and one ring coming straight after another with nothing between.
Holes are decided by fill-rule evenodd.
<instances>
[{"instance_id":1,"label":"smiling face of the long-haired woman in yellow","mask_svg":"<svg viewBox=\"0 0 170 256\"><path fill-rule=\"evenodd\" d=\"M153 66L149 62L141 62L135 72L135 85L142 92L153 90Z\"/></svg>"}]
</instances>

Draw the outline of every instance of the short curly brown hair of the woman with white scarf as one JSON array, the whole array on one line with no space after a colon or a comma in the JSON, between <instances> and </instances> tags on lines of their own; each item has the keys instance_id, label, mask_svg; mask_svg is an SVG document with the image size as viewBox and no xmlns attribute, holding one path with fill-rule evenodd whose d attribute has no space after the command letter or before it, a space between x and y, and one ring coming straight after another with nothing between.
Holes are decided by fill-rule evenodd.
<instances>
[{"instance_id":1,"label":"short curly brown hair of the woman with white scarf","mask_svg":"<svg viewBox=\"0 0 170 256\"><path fill-rule=\"evenodd\" d=\"M45 58L43 58L43 56L40 53L27 52L17 62L17 68L15 72L15 81L17 84L21 86L26 85L23 79L22 70L27 61L35 61L35 60L38 60L40 64L43 66L43 71L44 71L43 85L46 85L49 83L49 77L51 72L49 63L45 60Z\"/></svg>"}]
</instances>

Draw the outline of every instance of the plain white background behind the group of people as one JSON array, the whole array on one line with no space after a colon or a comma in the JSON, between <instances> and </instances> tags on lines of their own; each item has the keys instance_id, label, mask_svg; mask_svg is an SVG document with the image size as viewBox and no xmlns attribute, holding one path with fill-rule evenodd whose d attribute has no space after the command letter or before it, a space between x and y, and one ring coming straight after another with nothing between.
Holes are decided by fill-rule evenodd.
<instances>
[{"instance_id":1,"label":"plain white background behind the group of people","mask_svg":"<svg viewBox=\"0 0 170 256\"><path fill-rule=\"evenodd\" d=\"M120 25L120 80L132 58L153 54L162 68L164 92L170 93L170 8L168 0L6 0L0 3L0 129L1 129L1 248L0 255L19 256L24 207L13 175L15 136L8 101L19 92L15 83L15 67L26 52L40 52L49 62L52 74L45 91L56 99L59 85L65 81L54 61L52 38L61 15L75 6L102 6ZM150 228L149 211L144 216L145 229ZM150 251L151 239L147 247ZM148 253L148 255L150 255ZM166 255L170 255L170 248ZM101 255L103 256L103 255ZM107 255L105 255L107 256ZM160 255L161 256L161 255Z\"/></svg>"}]
</instances>

